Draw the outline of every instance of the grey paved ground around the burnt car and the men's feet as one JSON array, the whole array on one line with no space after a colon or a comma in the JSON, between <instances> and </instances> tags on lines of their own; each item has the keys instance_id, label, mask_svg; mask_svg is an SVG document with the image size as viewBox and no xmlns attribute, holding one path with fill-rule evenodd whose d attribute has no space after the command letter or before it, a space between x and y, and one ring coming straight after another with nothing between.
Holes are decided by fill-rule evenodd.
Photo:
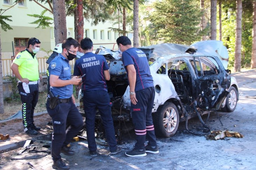
<instances>
[{"instance_id":1,"label":"grey paved ground around the burnt car and the men's feet","mask_svg":"<svg viewBox=\"0 0 256 170\"><path fill-rule=\"evenodd\" d=\"M234 74L240 87L240 100L233 113L219 112L223 126L217 114L210 114L206 124L211 130L229 130L240 132L243 138L225 138L225 140L206 140L205 136L195 136L187 133L185 123L181 123L177 133L171 138L158 138L159 154L148 154L145 157L132 158L124 155L125 151L132 149L135 138L124 136L122 152L109 156L108 148L98 145L99 156L92 158L88 154L87 141L71 143L76 151L74 156L62 155L70 168L86 170L222 170L222 169L256 169L256 70ZM206 120L207 115L203 116ZM47 125L50 118L42 114L35 118L36 125L43 127L40 135L28 136L22 132L21 120L11 120L0 124L0 133L8 133L11 138L0 141L0 169L15 170L31 169L30 162L38 170L51 168L51 157L47 155L34 160L10 160L10 156L22 147L27 139L47 139L52 132ZM189 120L189 129L200 127L197 118ZM48 135L47 135L48 134ZM45 137L46 136L46 137ZM18 143L18 144L17 144ZM11 146L11 147L10 147Z\"/></svg>"}]
</instances>

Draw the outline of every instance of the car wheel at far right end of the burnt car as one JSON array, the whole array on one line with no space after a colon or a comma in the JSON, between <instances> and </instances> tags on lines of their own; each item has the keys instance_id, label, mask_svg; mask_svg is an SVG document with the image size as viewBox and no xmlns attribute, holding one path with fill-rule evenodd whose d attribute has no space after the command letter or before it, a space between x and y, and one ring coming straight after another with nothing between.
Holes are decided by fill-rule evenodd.
<instances>
[{"instance_id":1,"label":"car wheel at far right end of the burnt car","mask_svg":"<svg viewBox=\"0 0 256 170\"><path fill-rule=\"evenodd\" d=\"M238 92L235 87L231 86L229 89L229 94L227 95L226 103L222 111L233 112L236 109L238 101Z\"/></svg>"}]
</instances>

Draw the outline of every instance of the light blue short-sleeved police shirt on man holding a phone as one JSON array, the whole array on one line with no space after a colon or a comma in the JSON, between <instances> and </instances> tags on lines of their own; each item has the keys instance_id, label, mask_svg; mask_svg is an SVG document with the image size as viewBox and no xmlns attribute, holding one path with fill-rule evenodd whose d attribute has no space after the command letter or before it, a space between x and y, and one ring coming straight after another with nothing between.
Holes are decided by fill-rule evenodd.
<instances>
[{"instance_id":1,"label":"light blue short-sleeved police shirt on man holding a phone","mask_svg":"<svg viewBox=\"0 0 256 170\"><path fill-rule=\"evenodd\" d=\"M71 70L69 61L64 56L59 54L50 62L49 75L59 76L61 80L71 79ZM70 98L73 94L73 84L63 87L51 87L50 90L54 96L59 95L59 98Z\"/></svg>"}]
</instances>

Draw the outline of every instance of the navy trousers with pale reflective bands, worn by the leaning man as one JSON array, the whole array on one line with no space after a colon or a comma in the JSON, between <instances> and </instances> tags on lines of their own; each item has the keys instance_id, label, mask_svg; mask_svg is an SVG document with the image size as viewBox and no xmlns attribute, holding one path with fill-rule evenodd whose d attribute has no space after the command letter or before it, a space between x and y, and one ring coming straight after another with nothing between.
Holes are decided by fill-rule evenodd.
<instances>
[{"instance_id":1,"label":"navy trousers with pale reflective bands, worn by the leaning man","mask_svg":"<svg viewBox=\"0 0 256 170\"><path fill-rule=\"evenodd\" d=\"M136 134L135 149L144 149L146 138L148 145L157 146L152 120L152 109L155 98L155 88L148 87L136 91L137 104L131 103L132 119Z\"/></svg>"}]
</instances>

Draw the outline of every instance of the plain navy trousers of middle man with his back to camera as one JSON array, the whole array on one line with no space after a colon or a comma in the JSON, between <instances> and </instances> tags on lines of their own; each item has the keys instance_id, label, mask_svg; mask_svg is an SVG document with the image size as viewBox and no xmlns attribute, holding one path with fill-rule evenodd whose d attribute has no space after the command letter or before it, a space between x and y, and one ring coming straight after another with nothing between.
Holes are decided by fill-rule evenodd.
<instances>
[{"instance_id":1,"label":"plain navy trousers of middle man with his back to camera","mask_svg":"<svg viewBox=\"0 0 256 170\"><path fill-rule=\"evenodd\" d=\"M115 130L109 104L108 92L105 90L92 90L83 92L83 106L85 110L85 126L90 151L97 149L94 135L96 108L99 109L102 124L105 127L106 139L110 152L116 150Z\"/></svg>"}]
</instances>

